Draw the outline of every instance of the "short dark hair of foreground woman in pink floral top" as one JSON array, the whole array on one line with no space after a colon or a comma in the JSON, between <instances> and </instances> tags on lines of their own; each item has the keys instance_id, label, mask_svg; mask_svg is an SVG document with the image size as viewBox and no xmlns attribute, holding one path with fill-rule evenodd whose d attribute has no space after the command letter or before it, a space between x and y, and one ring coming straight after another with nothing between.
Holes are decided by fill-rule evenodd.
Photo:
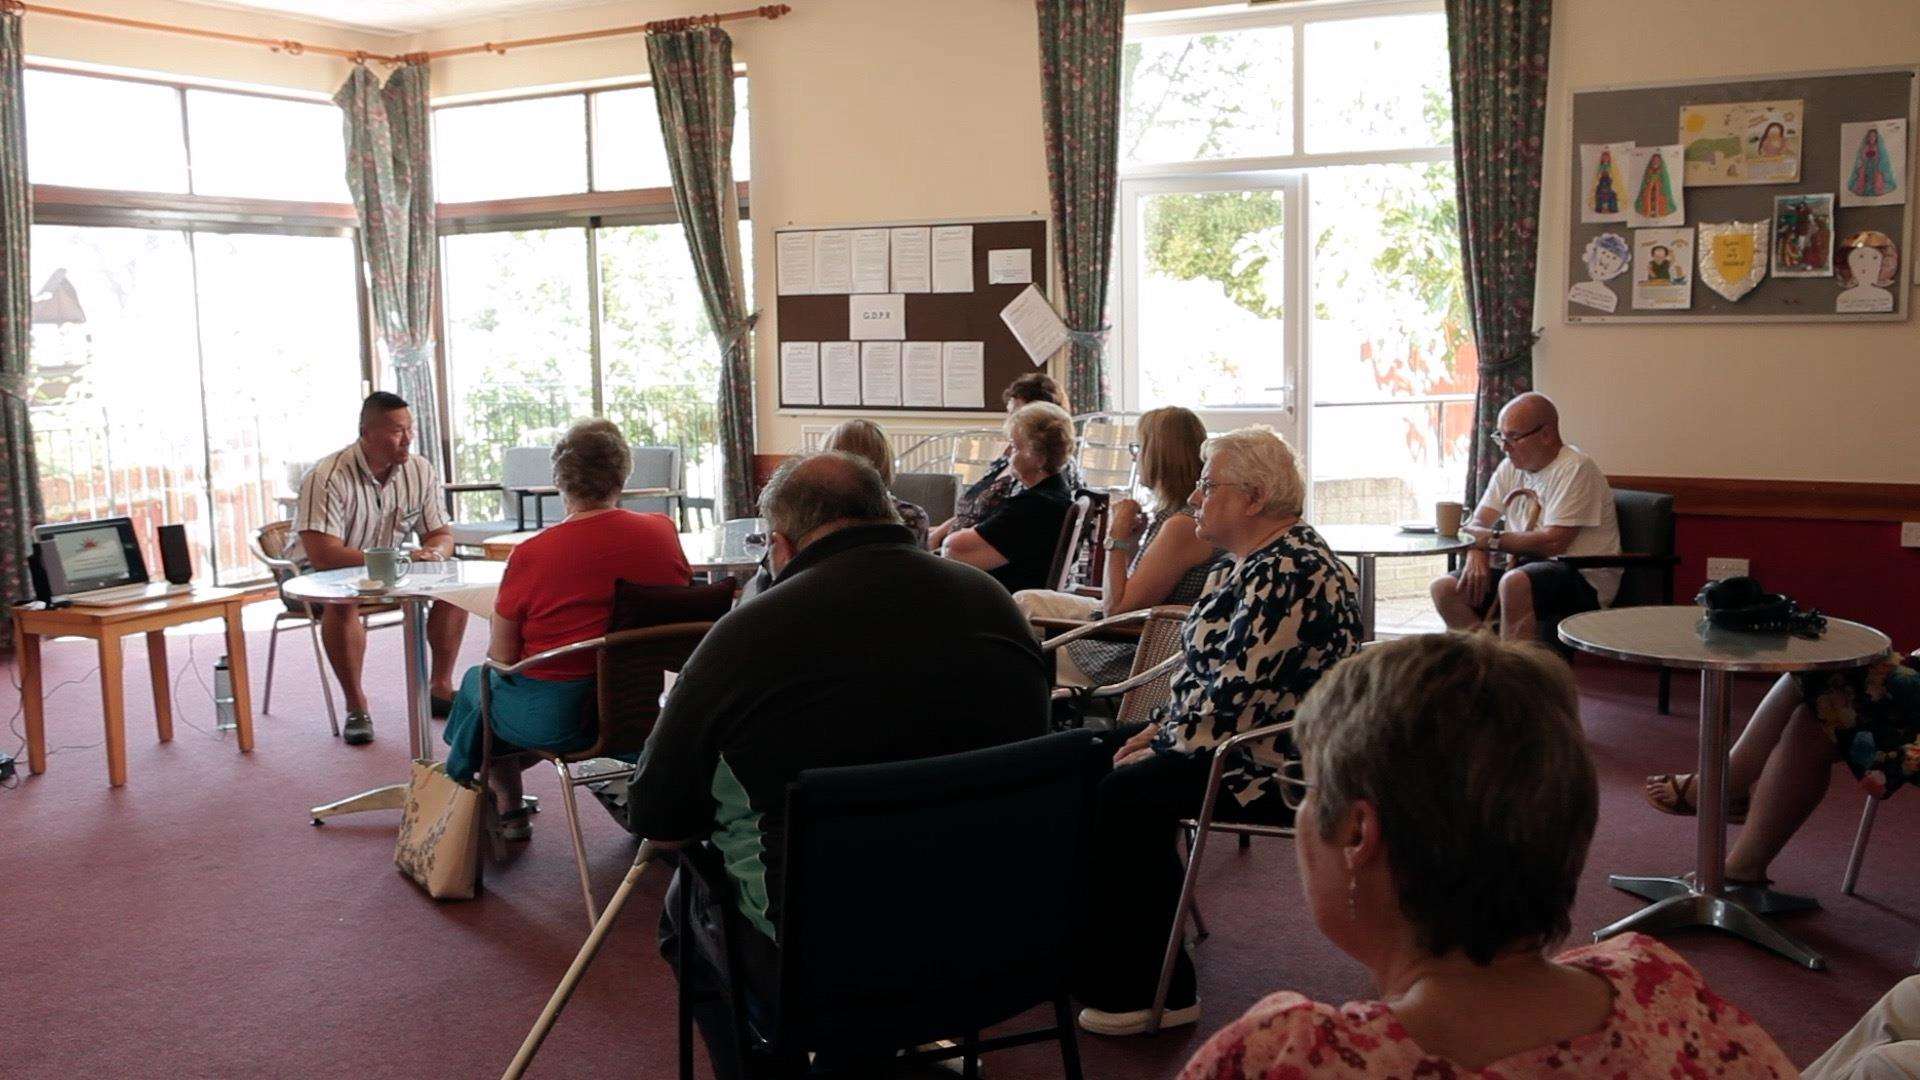
<instances>
[{"instance_id":1,"label":"short dark hair of foreground woman in pink floral top","mask_svg":"<svg viewBox=\"0 0 1920 1080\"><path fill-rule=\"evenodd\" d=\"M1361 650L1294 713L1313 813L1332 838L1373 803L1400 913L1432 955L1544 949L1599 817L1572 671L1536 644L1421 634Z\"/></svg>"}]
</instances>

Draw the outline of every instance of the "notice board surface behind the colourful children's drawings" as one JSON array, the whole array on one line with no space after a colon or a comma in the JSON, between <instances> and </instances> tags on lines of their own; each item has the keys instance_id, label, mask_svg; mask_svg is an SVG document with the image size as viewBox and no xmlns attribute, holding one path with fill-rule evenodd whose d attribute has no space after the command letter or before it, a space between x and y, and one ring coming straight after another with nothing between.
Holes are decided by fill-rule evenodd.
<instances>
[{"instance_id":1,"label":"notice board surface behind the colourful children's drawings","mask_svg":"<svg viewBox=\"0 0 1920 1080\"><path fill-rule=\"evenodd\" d=\"M1801 108L1797 115L1789 104L1797 102ZM1749 131L1761 133L1759 138L1772 142L1780 150L1782 140L1788 138L1784 133L1791 131L1793 123L1797 129L1797 156L1799 156L1799 175L1791 181L1724 181L1718 179L1711 169L1715 163L1715 150L1707 146L1701 138L1701 125L1707 121L1692 119L1701 115L1715 115L1711 106L1730 106L1724 115L1734 115L1732 106L1740 104L1780 104L1780 123L1768 119L1764 111L1751 111L1747 115L1755 117ZM1565 190L1559 198L1569 202L1567 217L1567 258L1561 271L1567 275L1561 284L1561 304L1567 323L1774 323L1774 321L1903 321L1908 315L1908 302L1912 296L1912 213L1914 198L1907 190L1912 184L1912 163L1914 163L1914 142L1916 142L1916 121L1920 121L1920 81L1916 81L1914 67L1876 67L1876 69L1855 69L1855 71L1818 71L1803 75L1772 75L1764 79L1699 79L1688 83L1667 83L1667 85L1647 85L1647 86L1607 86L1572 92L1572 108L1569 110L1571 138L1567 140L1569 154L1572 156L1572 181L1571 190ZM1860 144L1862 131L1874 127L1880 121L1899 119L1905 121L1905 131L1901 146L1895 150L1889 146L1889 154L1882 154L1872 161L1870 173L1880 173L1882 169L1889 177L1897 177L1901 194L1905 196L1899 204L1882 202L1876 206L1847 206L1849 196L1843 194L1853 183L1860 190L1868 190L1857 175L1862 171L1860 165ZM1688 127L1692 125L1692 127ZM1732 152L1745 138L1749 150L1757 142L1753 135L1738 131L1738 123L1728 123L1726 150ZM1693 133L1690 142L1688 131ZM1705 135L1713 135L1711 131ZM1889 131L1891 136L1891 131ZM1874 135L1876 146L1880 146L1880 135ZM1684 202L1684 219L1668 223L1668 227L1678 227L1690 231L1686 236L1692 238L1692 261L1693 273L1690 275L1692 298L1686 307L1636 307L1634 282L1653 284L1653 279L1667 275L1668 271L1661 267L1651 269L1653 259L1644 258L1634 263L1634 256L1642 254L1645 248L1647 256L1659 254L1651 248L1657 240L1647 234L1642 236L1642 229L1632 223L1619 221L1582 221L1584 211L1592 211L1594 186L1596 186L1596 161L1597 150L1601 146L1619 146L1624 142L1634 142L1638 148L1659 148L1668 144L1682 144L1686 150L1682 161L1670 163L1670 179L1674 184L1674 194L1680 194ZM1582 150L1586 148L1586 150ZM1897 158L1895 158L1897 154ZM1619 158L1619 152L1609 154ZM1730 161L1732 158L1724 158ZM1705 177L1713 179L1707 184L1692 183L1693 177L1688 169L1697 163L1705 169ZM1642 184L1634 181L1636 165L1628 161L1613 161L1613 177L1617 177L1615 192L1619 209L1640 209L1636 202L1644 190ZM1728 169L1738 169L1738 165L1728 165ZM1644 177L1642 177L1644 179ZM1684 194L1682 194L1684 192ZM1814 213L1805 211L1801 206L1801 219L1812 217L1822 223L1822 231L1830 233L1824 240L1832 244L1834 269L1841 273L1811 273L1805 277L1782 277L1774 273L1780 263L1776 258L1778 233L1782 229L1782 215L1788 227L1793 227L1793 211L1788 206L1776 206L1776 196L1786 196L1791 204L1791 196L1811 196ZM1830 209L1830 221L1818 217L1818 209L1824 206L1818 196L1834 196ZM1549 196L1551 198L1551 196ZM1601 202L1611 202L1607 196ZM1859 198L1855 196L1855 202ZM1776 209L1780 213L1776 215ZM1703 261L1711 258L1711 244L1701 236L1701 225L1722 225L1722 223L1768 223L1766 252L1761 258L1766 261L1766 273L1751 286L1749 292L1738 300L1728 300L1715 288L1709 288L1705 277L1699 273ZM1897 271L1887 271L1891 281L1885 282L1885 292L1891 292L1891 309L1887 311L1837 311L1836 302L1839 294L1851 284L1851 271L1847 267L1847 258L1841 246L1849 236L1860 233L1880 233L1891 238L1895 248ZM1630 250L1628 269L1615 277L1611 282L1599 282L1601 288L1609 288L1617 296L1617 309L1603 311L1594 306L1582 304L1569 296L1574 286L1594 284L1594 275L1588 259L1601 258L1601 246L1607 244L1599 240L1603 234L1617 234L1626 238ZM1814 233L1820 236L1820 233ZM1644 263L1644 265L1642 265ZM1885 265L1885 258L1880 259ZM1674 259L1674 265L1678 261ZM1728 263L1718 263L1724 271ZM1645 273L1642 273L1645 271ZM1805 273L1805 267L1801 267ZM1726 277L1720 273L1718 277ZM1657 292L1655 288L1647 290ZM1672 290L1667 290L1668 294ZM1592 296L1592 294L1590 294ZM1862 294L1864 296L1864 294ZM1882 294L1880 302L1885 304L1887 298ZM1601 296L1605 300L1605 296Z\"/></svg>"}]
</instances>

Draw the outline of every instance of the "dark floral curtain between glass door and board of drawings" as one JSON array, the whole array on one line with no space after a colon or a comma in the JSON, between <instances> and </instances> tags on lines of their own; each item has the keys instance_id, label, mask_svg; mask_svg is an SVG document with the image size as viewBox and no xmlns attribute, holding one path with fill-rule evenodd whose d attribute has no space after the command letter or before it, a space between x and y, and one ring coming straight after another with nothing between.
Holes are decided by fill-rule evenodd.
<instances>
[{"instance_id":1,"label":"dark floral curtain between glass door and board of drawings","mask_svg":"<svg viewBox=\"0 0 1920 1080\"><path fill-rule=\"evenodd\" d=\"M1480 354L1467 505L1500 463L1501 405L1534 384L1534 261L1551 0L1448 0L1459 248Z\"/></svg>"}]
</instances>

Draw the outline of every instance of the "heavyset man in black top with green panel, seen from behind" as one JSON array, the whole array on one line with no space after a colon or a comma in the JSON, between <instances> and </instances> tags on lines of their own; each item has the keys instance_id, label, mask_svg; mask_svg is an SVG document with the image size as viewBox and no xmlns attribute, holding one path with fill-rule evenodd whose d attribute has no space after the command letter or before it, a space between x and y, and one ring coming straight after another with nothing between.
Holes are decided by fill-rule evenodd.
<instances>
[{"instance_id":1,"label":"heavyset man in black top with green panel, seen from behind","mask_svg":"<svg viewBox=\"0 0 1920 1080\"><path fill-rule=\"evenodd\" d=\"M1012 598L922 550L872 465L789 461L760 511L774 584L687 659L628 788L634 832L718 847L758 938L739 949L755 967L778 955L785 796L801 771L1033 738L1048 709L1046 667ZM662 924L662 945L680 930ZM707 1032L708 1047L726 1045ZM720 1059L714 1068L726 1074Z\"/></svg>"}]
</instances>

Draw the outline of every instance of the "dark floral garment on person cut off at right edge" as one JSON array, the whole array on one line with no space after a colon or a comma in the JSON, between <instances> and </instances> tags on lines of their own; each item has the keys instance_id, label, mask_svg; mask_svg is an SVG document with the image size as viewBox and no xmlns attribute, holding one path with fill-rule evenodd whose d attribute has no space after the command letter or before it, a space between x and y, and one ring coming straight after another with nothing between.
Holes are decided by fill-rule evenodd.
<instances>
[{"instance_id":1,"label":"dark floral garment on person cut off at right edge","mask_svg":"<svg viewBox=\"0 0 1920 1080\"><path fill-rule=\"evenodd\" d=\"M1920 651L1872 667L1801 675L1801 698L1870 794L1920 784Z\"/></svg>"}]
</instances>

